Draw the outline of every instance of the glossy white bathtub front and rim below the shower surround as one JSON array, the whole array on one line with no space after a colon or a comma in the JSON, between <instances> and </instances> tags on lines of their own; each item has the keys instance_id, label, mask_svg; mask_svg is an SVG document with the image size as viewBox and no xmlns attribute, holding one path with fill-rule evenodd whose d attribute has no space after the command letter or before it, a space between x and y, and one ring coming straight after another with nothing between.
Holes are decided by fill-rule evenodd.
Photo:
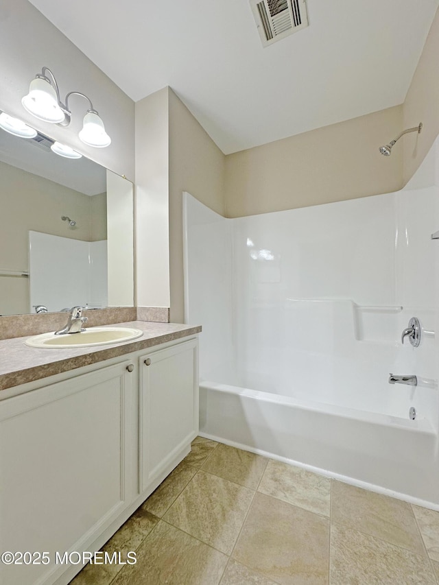
<instances>
[{"instance_id":1,"label":"glossy white bathtub front and rim below the shower surround","mask_svg":"<svg viewBox=\"0 0 439 585\"><path fill-rule=\"evenodd\" d=\"M429 420L200 381L200 435L439 510Z\"/></svg>"}]
</instances>

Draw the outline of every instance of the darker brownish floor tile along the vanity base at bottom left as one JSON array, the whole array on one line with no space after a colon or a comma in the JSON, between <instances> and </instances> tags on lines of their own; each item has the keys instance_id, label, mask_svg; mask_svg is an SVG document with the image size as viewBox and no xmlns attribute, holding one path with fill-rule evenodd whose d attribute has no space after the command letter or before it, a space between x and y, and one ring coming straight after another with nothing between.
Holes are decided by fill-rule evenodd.
<instances>
[{"instance_id":1,"label":"darker brownish floor tile along the vanity base at bottom left","mask_svg":"<svg viewBox=\"0 0 439 585\"><path fill-rule=\"evenodd\" d=\"M136 551L157 523L158 518L141 505L101 550L110 555L120 552L122 560L126 560L126 553ZM121 564L89 563L71 581L71 585L109 585L121 569Z\"/></svg>"}]
</instances>

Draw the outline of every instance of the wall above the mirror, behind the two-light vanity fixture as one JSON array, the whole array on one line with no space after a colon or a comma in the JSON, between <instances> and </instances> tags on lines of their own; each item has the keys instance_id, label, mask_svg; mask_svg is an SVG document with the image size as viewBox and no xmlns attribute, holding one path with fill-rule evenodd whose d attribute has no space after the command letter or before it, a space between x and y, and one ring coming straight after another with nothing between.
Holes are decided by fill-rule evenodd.
<instances>
[{"instance_id":1,"label":"wall above the mirror, behind the two-light vanity fixture","mask_svg":"<svg viewBox=\"0 0 439 585\"><path fill-rule=\"evenodd\" d=\"M1 110L134 180L134 102L27 0L0 3L0 55ZM21 106L29 82L43 66L56 76L62 100L69 91L90 97L111 136L109 147L88 147L78 138L88 108L82 97L71 98L68 128L40 121Z\"/></svg>"}]
</instances>

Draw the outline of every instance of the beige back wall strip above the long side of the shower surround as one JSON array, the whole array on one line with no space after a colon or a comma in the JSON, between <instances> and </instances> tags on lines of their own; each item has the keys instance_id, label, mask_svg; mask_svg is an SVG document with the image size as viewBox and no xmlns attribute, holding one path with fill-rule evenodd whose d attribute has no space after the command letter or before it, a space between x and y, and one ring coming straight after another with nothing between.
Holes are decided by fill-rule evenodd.
<instances>
[{"instance_id":1,"label":"beige back wall strip above the long side of the shower surround","mask_svg":"<svg viewBox=\"0 0 439 585\"><path fill-rule=\"evenodd\" d=\"M226 156L226 216L355 199L402 187L402 151L379 154L401 130L401 106Z\"/></svg>"}]
</instances>

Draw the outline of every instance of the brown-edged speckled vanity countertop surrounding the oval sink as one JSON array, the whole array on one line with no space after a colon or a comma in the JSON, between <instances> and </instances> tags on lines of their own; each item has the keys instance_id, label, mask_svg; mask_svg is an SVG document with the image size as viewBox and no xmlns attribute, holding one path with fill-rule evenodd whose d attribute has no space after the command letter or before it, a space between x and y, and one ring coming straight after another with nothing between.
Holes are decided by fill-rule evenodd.
<instances>
[{"instance_id":1,"label":"brown-edged speckled vanity countertop surrounding the oval sink","mask_svg":"<svg viewBox=\"0 0 439 585\"><path fill-rule=\"evenodd\" d=\"M25 345L27 337L14 337L0 341L0 391L20 384L82 368L91 363L119 357L127 353L200 333L201 326L180 323L154 323L130 321L113 326L135 327L143 331L142 337L130 342L78 348L34 348Z\"/></svg>"}]
</instances>

